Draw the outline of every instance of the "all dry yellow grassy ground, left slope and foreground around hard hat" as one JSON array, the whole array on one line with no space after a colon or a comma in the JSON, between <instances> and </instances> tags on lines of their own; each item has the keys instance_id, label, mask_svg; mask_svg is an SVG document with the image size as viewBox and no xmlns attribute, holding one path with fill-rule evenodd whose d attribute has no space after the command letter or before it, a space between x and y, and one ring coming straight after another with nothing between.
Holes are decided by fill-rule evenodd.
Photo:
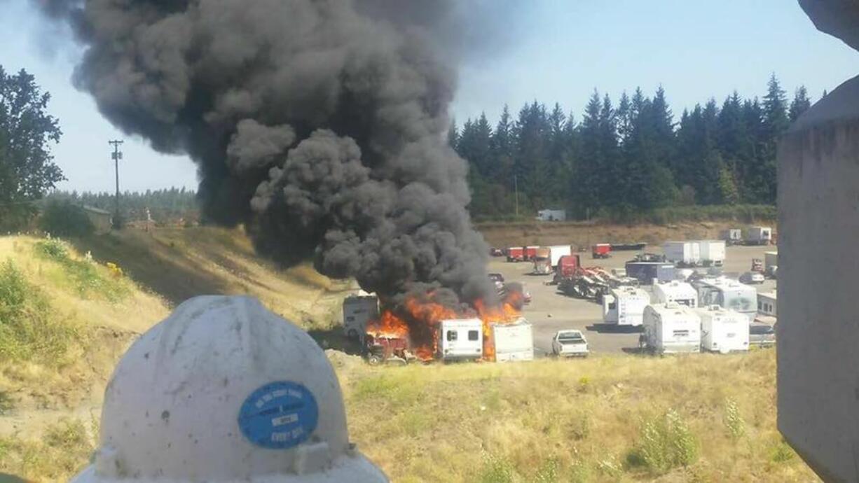
<instances>
[{"instance_id":1,"label":"all dry yellow grassy ground, left slope and foreground around hard hat","mask_svg":"<svg viewBox=\"0 0 859 483\"><path fill-rule=\"evenodd\" d=\"M0 474L87 464L115 360L181 300L251 293L324 330L348 288L256 260L236 231L0 238ZM773 351L405 368L328 353L351 438L394 481L815 480L776 430Z\"/></svg>"}]
</instances>

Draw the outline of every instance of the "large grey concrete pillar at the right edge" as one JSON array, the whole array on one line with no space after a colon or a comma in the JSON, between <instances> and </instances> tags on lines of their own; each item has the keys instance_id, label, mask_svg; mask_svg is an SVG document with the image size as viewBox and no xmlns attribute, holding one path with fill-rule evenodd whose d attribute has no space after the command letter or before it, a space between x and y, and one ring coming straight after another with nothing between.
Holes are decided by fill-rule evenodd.
<instances>
[{"instance_id":1,"label":"large grey concrete pillar at the right edge","mask_svg":"<svg viewBox=\"0 0 859 483\"><path fill-rule=\"evenodd\" d=\"M778 158L778 427L825 480L859 481L859 77Z\"/></svg>"}]
</instances>

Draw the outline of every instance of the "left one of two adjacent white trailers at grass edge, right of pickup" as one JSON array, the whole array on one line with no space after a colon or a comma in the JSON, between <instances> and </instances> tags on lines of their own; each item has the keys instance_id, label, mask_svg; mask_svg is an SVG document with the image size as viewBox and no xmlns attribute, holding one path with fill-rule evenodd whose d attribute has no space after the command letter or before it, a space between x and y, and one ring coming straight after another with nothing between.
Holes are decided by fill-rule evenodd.
<instances>
[{"instance_id":1,"label":"left one of two adjacent white trailers at grass edge, right of pickup","mask_svg":"<svg viewBox=\"0 0 859 483\"><path fill-rule=\"evenodd\" d=\"M685 305L648 305L644 308L644 348L653 353L701 351L701 317Z\"/></svg>"}]
</instances>

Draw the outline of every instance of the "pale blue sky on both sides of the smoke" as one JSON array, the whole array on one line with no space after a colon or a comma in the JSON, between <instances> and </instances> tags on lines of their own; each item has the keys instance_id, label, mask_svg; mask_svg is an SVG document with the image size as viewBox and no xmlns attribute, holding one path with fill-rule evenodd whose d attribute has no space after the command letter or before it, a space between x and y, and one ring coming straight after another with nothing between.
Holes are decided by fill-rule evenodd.
<instances>
[{"instance_id":1,"label":"pale blue sky on both sides of the smoke","mask_svg":"<svg viewBox=\"0 0 859 483\"><path fill-rule=\"evenodd\" d=\"M196 185L184 157L155 153L101 118L87 94L71 87L80 51L58 48L24 0L0 0L0 64L27 69L52 93L50 111L64 136L53 149L67 190L113 190L109 139L125 139L122 189ZM561 103L581 118L594 88L617 99L637 86L666 89L676 117L710 96L735 90L763 95L775 72L792 94L805 84L814 100L859 74L859 52L819 33L798 3L786 0L521 0L515 25L498 26L501 51L480 49L460 69L452 106L462 121L486 112L494 122L508 103Z\"/></svg>"}]
</instances>

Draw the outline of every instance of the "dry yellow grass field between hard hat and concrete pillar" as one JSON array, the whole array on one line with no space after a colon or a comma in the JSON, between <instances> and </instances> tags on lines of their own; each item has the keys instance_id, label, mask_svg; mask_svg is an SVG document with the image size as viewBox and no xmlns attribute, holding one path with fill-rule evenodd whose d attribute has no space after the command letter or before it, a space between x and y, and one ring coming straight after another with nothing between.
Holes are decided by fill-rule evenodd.
<instances>
[{"instance_id":1,"label":"dry yellow grass field between hard hat and concrete pillar","mask_svg":"<svg viewBox=\"0 0 859 483\"><path fill-rule=\"evenodd\" d=\"M776 429L773 351L338 369L395 481L808 481Z\"/></svg>"}]
</instances>

